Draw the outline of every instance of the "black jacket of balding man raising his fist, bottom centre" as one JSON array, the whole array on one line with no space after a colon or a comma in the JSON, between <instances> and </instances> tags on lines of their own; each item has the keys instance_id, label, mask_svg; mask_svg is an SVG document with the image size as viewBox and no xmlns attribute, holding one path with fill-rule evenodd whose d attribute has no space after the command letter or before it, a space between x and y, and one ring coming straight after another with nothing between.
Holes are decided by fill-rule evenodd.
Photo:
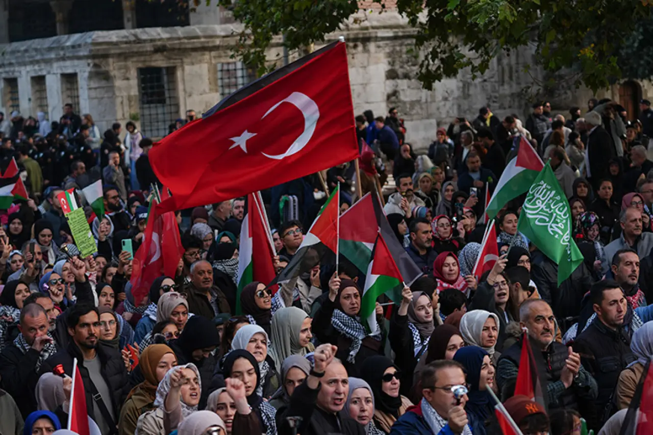
<instances>
[{"instance_id":1,"label":"black jacket of balding man raising his fist, bottom centre","mask_svg":"<svg viewBox=\"0 0 653 435\"><path fill-rule=\"evenodd\" d=\"M317 389L311 390L306 382L296 387L290 404L277 411L276 421L279 435L365 435L365 429L342 411L332 414L317 408ZM287 417L302 417L298 430L290 427Z\"/></svg>"}]
</instances>

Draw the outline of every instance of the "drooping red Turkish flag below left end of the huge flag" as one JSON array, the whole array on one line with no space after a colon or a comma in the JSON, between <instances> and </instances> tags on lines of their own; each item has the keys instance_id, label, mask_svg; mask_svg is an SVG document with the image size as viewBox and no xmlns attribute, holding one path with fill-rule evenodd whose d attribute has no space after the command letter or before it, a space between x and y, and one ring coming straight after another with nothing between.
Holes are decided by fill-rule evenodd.
<instances>
[{"instance_id":1,"label":"drooping red Turkish flag below left end of the huge flag","mask_svg":"<svg viewBox=\"0 0 653 435\"><path fill-rule=\"evenodd\" d=\"M165 188L163 189L165 191ZM150 206L145 238L136 251L131 274L131 293L139 306L150 292L150 286L162 275L174 276L183 255L182 240L173 212L159 214Z\"/></svg>"}]
</instances>

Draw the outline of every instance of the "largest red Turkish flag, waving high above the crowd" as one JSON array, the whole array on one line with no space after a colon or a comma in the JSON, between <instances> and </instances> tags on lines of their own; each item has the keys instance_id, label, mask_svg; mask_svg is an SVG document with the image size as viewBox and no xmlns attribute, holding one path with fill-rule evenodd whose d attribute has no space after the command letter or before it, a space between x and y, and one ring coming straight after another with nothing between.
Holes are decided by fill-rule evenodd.
<instances>
[{"instance_id":1,"label":"largest red Turkish flag, waving high above the crowd","mask_svg":"<svg viewBox=\"0 0 653 435\"><path fill-rule=\"evenodd\" d=\"M253 82L157 142L161 211L245 196L358 157L344 42Z\"/></svg>"}]
</instances>

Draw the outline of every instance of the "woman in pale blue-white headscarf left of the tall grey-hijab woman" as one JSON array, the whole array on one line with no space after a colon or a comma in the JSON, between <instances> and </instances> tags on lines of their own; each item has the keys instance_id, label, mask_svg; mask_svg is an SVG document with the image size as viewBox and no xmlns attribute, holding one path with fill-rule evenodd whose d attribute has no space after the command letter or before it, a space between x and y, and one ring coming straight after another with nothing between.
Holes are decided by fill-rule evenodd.
<instances>
[{"instance_id":1,"label":"woman in pale blue-white headscarf left of the tall grey-hijab woman","mask_svg":"<svg viewBox=\"0 0 653 435\"><path fill-rule=\"evenodd\" d=\"M244 349L256 359L261 374L256 393L264 398L270 398L281 385L274 360L268 355L269 342L268 334L259 325L241 327L231 342L232 351Z\"/></svg>"}]
</instances>

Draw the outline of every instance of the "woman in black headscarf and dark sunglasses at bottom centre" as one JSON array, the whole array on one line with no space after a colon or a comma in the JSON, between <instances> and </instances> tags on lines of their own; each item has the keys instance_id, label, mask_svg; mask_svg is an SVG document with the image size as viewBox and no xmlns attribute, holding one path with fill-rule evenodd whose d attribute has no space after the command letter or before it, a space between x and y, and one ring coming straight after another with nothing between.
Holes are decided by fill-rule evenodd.
<instances>
[{"instance_id":1,"label":"woman in black headscarf and dark sunglasses at bottom centre","mask_svg":"<svg viewBox=\"0 0 653 435\"><path fill-rule=\"evenodd\" d=\"M396 419L404 415L409 406L413 406L408 398L399 393L402 372L388 357L375 355L363 362L360 375L374 393L374 425L389 434Z\"/></svg>"}]
</instances>

